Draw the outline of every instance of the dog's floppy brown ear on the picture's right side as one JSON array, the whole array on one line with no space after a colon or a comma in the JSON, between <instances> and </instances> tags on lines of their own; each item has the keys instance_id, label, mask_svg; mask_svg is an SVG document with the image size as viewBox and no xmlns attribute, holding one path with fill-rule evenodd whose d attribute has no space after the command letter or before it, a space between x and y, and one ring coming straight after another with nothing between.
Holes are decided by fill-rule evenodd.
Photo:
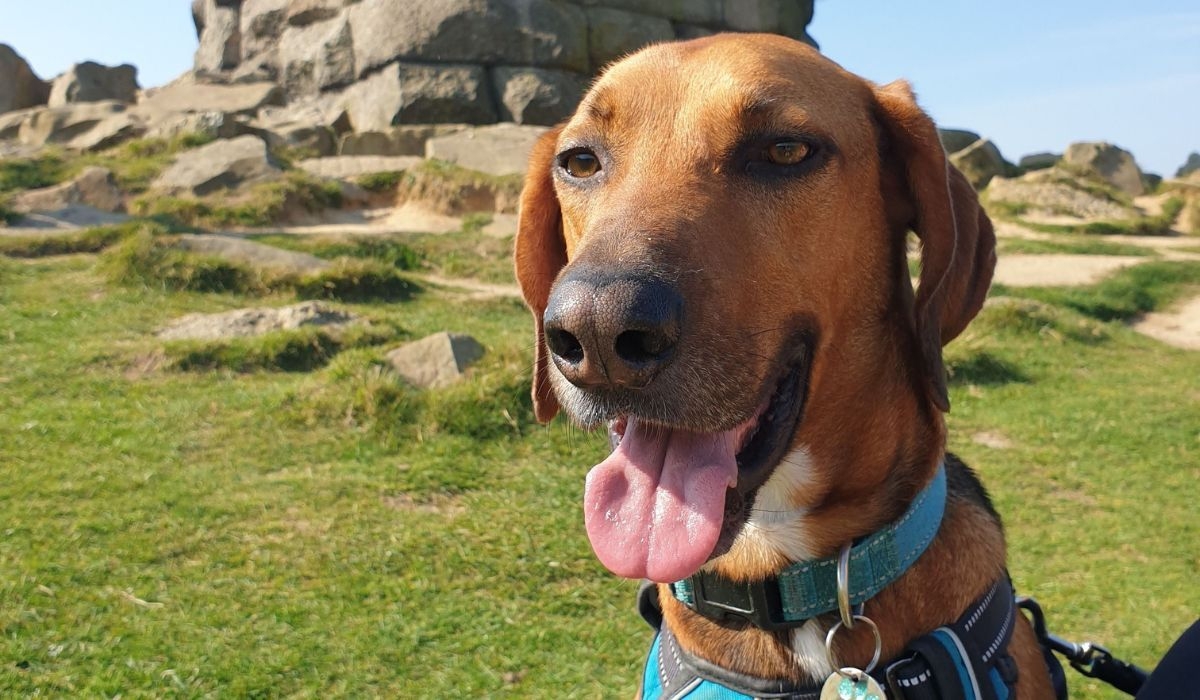
<instances>
[{"instance_id":1,"label":"dog's floppy brown ear on the picture's right side","mask_svg":"<svg viewBox=\"0 0 1200 700\"><path fill-rule=\"evenodd\" d=\"M949 411L942 346L974 318L996 267L996 235L974 189L946 160L934 121L917 106L904 80L876 88L877 118L886 143L884 167L907 189L902 208L920 239L920 277L914 306L917 340L925 363L929 399Z\"/></svg>"}]
</instances>

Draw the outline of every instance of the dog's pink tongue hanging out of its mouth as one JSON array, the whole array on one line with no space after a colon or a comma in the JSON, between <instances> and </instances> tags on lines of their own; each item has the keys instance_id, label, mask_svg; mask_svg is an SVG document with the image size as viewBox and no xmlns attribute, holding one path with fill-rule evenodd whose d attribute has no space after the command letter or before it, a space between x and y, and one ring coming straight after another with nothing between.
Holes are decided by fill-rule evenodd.
<instances>
[{"instance_id":1,"label":"dog's pink tongue hanging out of its mouth","mask_svg":"<svg viewBox=\"0 0 1200 700\"><path fill-rule=\"evenodd\" d=\"M668 431L630 418L617 449L588 473L583 496L588 538L604 566L659 582L696 573L721 534L744 432Z\"/></svg>"}]
</instances>

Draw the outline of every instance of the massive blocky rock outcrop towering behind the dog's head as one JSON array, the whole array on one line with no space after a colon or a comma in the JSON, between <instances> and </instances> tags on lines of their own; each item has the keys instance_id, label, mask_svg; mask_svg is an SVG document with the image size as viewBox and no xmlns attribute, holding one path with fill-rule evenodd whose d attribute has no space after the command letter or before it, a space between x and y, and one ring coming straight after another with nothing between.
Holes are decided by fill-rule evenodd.
<instances>
[{"instance_id":1,"label":"massive blocky rock outcrop towering behind the dog's head","mask_svg":"<svg viewBox=\"0 0 1200 700\"><path fill-rule=\"evenodd\" d=\"M606 62L652 41L766 30L815 46L805 31L812 0L194 0L192 5L200 35L193 76L224 84L277 82L287 103L313 100L343 108L358 131L448 119L548 124ZM397 71L402 76L394 79ZM451 74L457 86L433 90L430 74L439 72ZM428 107L431 90L438 92L432 98L439 103L436 109ZM449 100L448 92L458 96ZM494 103L502 97L503 108ZM458 104L458 116L448 116L446 102L467 107Z\"/></svg>"}]
</instances>

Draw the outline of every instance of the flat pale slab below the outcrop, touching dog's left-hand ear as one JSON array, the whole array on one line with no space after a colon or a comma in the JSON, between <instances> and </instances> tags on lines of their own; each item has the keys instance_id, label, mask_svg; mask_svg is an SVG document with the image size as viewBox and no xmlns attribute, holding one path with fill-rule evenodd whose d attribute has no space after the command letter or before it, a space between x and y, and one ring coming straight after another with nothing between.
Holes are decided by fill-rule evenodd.
<instances>
[{"instance_id":1,"label":"flat pale slab below the outcrop, touching dog's left-hand ear","mask_svg":"<svg viewBox=\"0 0 1200 700\"><path fill-rule=\"evenodd\" d=\"M541 126L481 126L431 138L425 155L491 175L518 174L526 172L529 151L544 133Z\"/></svg>"}]
</instances>

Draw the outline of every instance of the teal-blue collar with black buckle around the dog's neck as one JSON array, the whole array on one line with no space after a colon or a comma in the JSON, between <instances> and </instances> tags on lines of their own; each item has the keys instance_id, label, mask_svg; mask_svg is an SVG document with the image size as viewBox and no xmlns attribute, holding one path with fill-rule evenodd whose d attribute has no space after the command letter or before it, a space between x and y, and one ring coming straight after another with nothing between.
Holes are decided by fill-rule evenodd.
<instances>
[{"instance_id":1,"label":"teal-blue collar with black buckle around the dog's neck","mask_svg":"<svg viewBox=\"0 0 1200 700\"><path fill-rule=\"evenodd\" d=\"M850 550L850 604L859 605L908 570L937 534L946 510L946 466L908 510ZM674 597L713 620L788 629L838 610L838 557L797 562L766 581L737 582L698 573L671 584Z\"/></svg>"}]
</instances>

